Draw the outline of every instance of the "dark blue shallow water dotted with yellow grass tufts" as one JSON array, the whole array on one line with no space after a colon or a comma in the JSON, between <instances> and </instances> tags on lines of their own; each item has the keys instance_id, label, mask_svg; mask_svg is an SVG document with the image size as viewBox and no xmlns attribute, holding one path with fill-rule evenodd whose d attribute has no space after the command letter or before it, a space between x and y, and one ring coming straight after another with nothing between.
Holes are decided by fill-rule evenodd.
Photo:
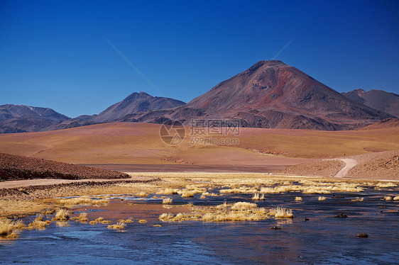
<instances>
[{"instance_id":1,"label":"dark blue shallow water dotted with yellow grass tufts","mask_svg":"<svg viewBox=\"0 0 399 265\"><path fill-rule=\"evenodd\" d=\"M200 199L173 198L173 208L162 199L140 200L115 197L108 205L81 206L75 213L88 213L116 222L131 218L124 232L106 225L75 221L70 227L55 222L46 230L23 230L18 239L0 241L0 263L31 264L397 264L399 260L399 201L382 201L398 188L368 189L364 193L335 193L344 198L318 194L270 194L259 207L292 208L293 220L251 222L160 222L161 213L181 213L190 207L219 205L227 201L251 201L251 194L224 194ZM388 191L390 190L390 191ZM295 202L301 196L302 202ZM364 201L352 202L354 197ZM251 201L252 202L252 201ZM386 208L382 208L386 207ZM334 218L345 213L348 218ZM48 217L50 218L50 216ZM305 218L309 221L305 222ZM27 218L33 220L34 217ZM145 219L148 222L139 223ZM162 225L154 227L153 225ZM281 230L268 227L280 226ZM366 232L368 238L357 238Z\"/></svg>"}]
</instances>

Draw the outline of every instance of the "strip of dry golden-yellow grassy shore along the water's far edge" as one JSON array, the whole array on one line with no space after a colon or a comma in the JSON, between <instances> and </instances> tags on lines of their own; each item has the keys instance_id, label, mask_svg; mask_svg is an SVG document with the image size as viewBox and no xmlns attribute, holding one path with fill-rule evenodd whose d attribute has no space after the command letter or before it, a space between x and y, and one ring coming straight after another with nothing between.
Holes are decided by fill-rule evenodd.
<instances>
[{"instance_id":1,"label":"strip of dry golden-yellow grassy shore along the water's far edge","mask_svg":"<svg viewBox=\"0 0 399 265\"><path fill-rule=\"evenodd\" d=\"M96 180L60 180L64 183L53 183L47 185L13 186L12 188L1 188L1 184L9 181L0 182L0 217L23 218L34 215L42 210L54 209L59 207L56 199L66 196L99 196L99 194L134 194L139 192L155 193L160 188L184 187L185 185L195 184L204 179L217 181L218 179L245 179L258 181L265 180L300 180L308 179L322 182L347 182L356 183L367 181L369 183L394 182L397 180L387 179L353 179L337 177L317 177L317 176L295 176L288 174L267 174L267 173L209 173L209 172L142 172L128 173L131 179L96 179ZM13 181L23 183L24 180ZM50 181L51 179L45 179Z\"/></svg>"}]
</instances>

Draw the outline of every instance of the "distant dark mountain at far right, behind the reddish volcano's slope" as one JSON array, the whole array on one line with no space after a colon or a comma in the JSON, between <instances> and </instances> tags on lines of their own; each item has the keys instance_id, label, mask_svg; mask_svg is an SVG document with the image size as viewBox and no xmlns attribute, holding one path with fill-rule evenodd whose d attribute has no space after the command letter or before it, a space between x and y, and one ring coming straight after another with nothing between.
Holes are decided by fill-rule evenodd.
<instances>
[{"instance_id":1,"label":"distant dark mountain at far right, behind the reddish volcano's slope","mask_svg":"<svg viewBox=\"0 0 399 265\"><path fill-rule=\"evenodd\" d=\"M389 93L383 90L364 91L363 89L355 89L342 95L353 101L363 103L366 106L375 108L378 111L390 113L399 118L399 95Z\"/></svg>"}]
</instances>

